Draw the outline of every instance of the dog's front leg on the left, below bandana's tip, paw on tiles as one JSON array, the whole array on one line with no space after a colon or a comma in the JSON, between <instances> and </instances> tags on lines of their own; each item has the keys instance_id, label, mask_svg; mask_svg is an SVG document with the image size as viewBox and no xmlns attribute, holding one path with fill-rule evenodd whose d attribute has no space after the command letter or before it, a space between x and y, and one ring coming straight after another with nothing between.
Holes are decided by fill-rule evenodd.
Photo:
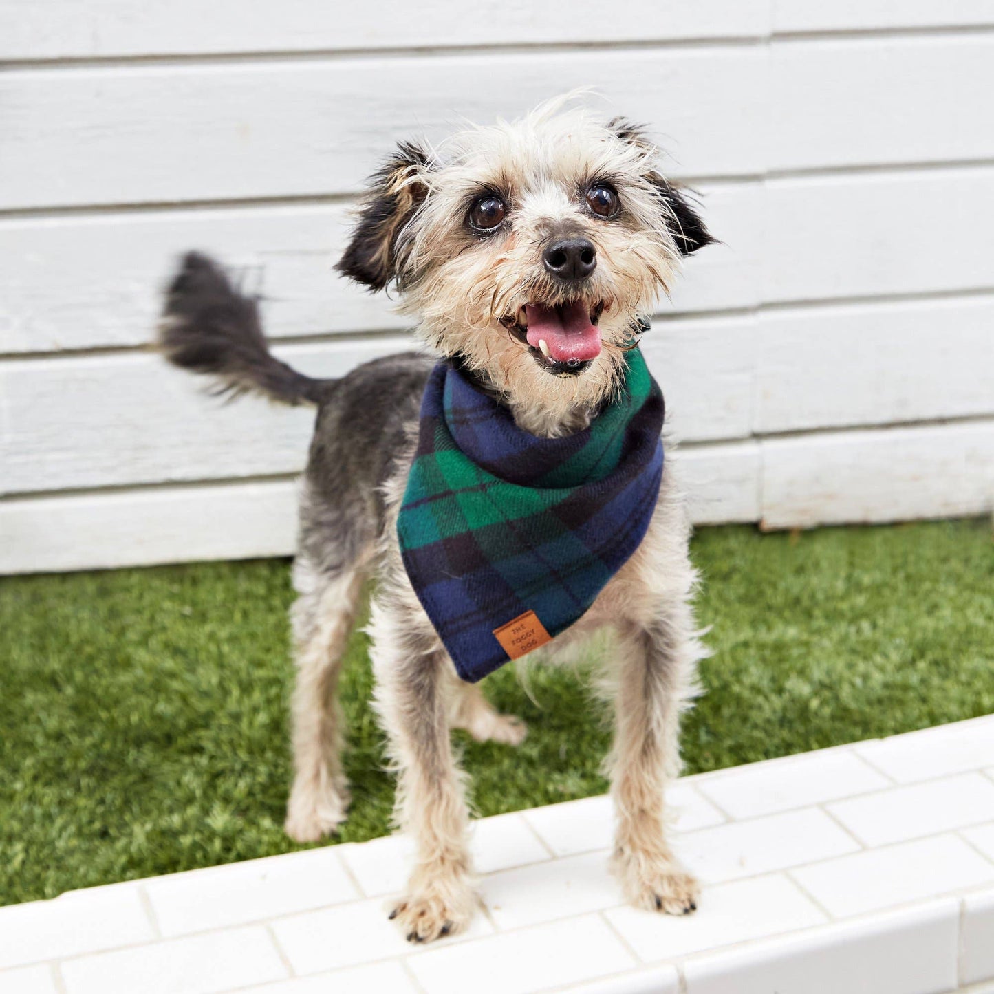
<instances>
[{"instance_id":1,"label":"dog's front leg on the left, below bandana's tip, paw on tiles","mask_svg":"<svg viewBox=\"0 0 994 994\"><path fill-rule=\"evenodd\" d=\"M462 773L449 741L444 651L414 644L408 625L374 606L377 710L398 770L397 820L416 846L407 895L391 917L409 941L464 928L476 910Z\"/></svg>"}]
</instances>

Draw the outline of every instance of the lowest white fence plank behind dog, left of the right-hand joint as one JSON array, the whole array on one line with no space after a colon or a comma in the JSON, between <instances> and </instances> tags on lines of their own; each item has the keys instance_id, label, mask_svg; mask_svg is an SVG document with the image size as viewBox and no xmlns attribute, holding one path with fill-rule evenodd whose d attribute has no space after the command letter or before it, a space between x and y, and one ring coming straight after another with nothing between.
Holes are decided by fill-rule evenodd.
<instances>
[{"instance_id":1,"label":"lowest white fence plank behind dog, left of the right-hand joint","mask_svg":"<svg viewBox=\"0 0 994 994\"><path fill-rule=\"evenodd\" d=\"M752 443L676 459L699 523L755 520ZM291 480L0 501L0 574L289 556L296 526Z\"/></svg>"}]
</instances>

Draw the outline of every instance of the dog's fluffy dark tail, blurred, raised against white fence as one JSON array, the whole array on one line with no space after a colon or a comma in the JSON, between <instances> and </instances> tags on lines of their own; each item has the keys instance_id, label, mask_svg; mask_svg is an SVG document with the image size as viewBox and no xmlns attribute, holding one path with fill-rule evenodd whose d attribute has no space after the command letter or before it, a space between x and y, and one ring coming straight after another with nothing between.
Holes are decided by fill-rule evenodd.
<instances>
[{"instance_id":1,"label":"dog's fluffy dark tail, blurred, raised against white fence","mask_svg":"<svg viewBox=\"0 0 994 994\"><path fill-rule=\"evenodd\" d=\"M219 392L253 392L282 404L320 404L333 380L312 380L269 352L255 300L225 270L188 252L166 291L159 348L174 365L213 376Z\"/></svg>"}]
</instances>

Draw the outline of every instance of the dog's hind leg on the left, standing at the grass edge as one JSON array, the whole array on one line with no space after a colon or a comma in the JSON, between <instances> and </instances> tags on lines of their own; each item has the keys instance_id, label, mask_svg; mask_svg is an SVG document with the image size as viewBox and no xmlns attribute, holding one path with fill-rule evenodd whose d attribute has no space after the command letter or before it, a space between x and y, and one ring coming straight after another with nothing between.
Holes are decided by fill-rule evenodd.
<instances>
[{"instance_id":1,"label":"dog's hind leg on the left, standing at the grass edge","mask_svg":"<svg viewBox=\"0 0 994 994\"><path fill-rule=\"evenodd\" d=\"M345 820L349 792L341 763L338 675L364 579L357 566L328 576L304 560L294 564L301 591L291 612L297 666L294 778L284 828L297 842L315 842Z\"/></svg>"}]
</instances>

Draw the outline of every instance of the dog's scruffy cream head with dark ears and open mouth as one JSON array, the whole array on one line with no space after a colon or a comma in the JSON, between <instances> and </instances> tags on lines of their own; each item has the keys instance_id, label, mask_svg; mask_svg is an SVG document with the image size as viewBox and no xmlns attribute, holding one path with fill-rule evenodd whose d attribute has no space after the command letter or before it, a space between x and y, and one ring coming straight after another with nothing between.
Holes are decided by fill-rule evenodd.
<instances>
[{"instance_id":1,"label":"dog's scruffy cream head with dark ears and open mouth","mask_svg":"<svg viewBox=\"0 0 994 994\"><path fill-rule=\"evenodd\" d=\"M712 242L627 121L564 99L415 144L373 178L339 269L395 285L420 334L552 417L607 395L639 315Z\"/></svg>"}]
</instances>

